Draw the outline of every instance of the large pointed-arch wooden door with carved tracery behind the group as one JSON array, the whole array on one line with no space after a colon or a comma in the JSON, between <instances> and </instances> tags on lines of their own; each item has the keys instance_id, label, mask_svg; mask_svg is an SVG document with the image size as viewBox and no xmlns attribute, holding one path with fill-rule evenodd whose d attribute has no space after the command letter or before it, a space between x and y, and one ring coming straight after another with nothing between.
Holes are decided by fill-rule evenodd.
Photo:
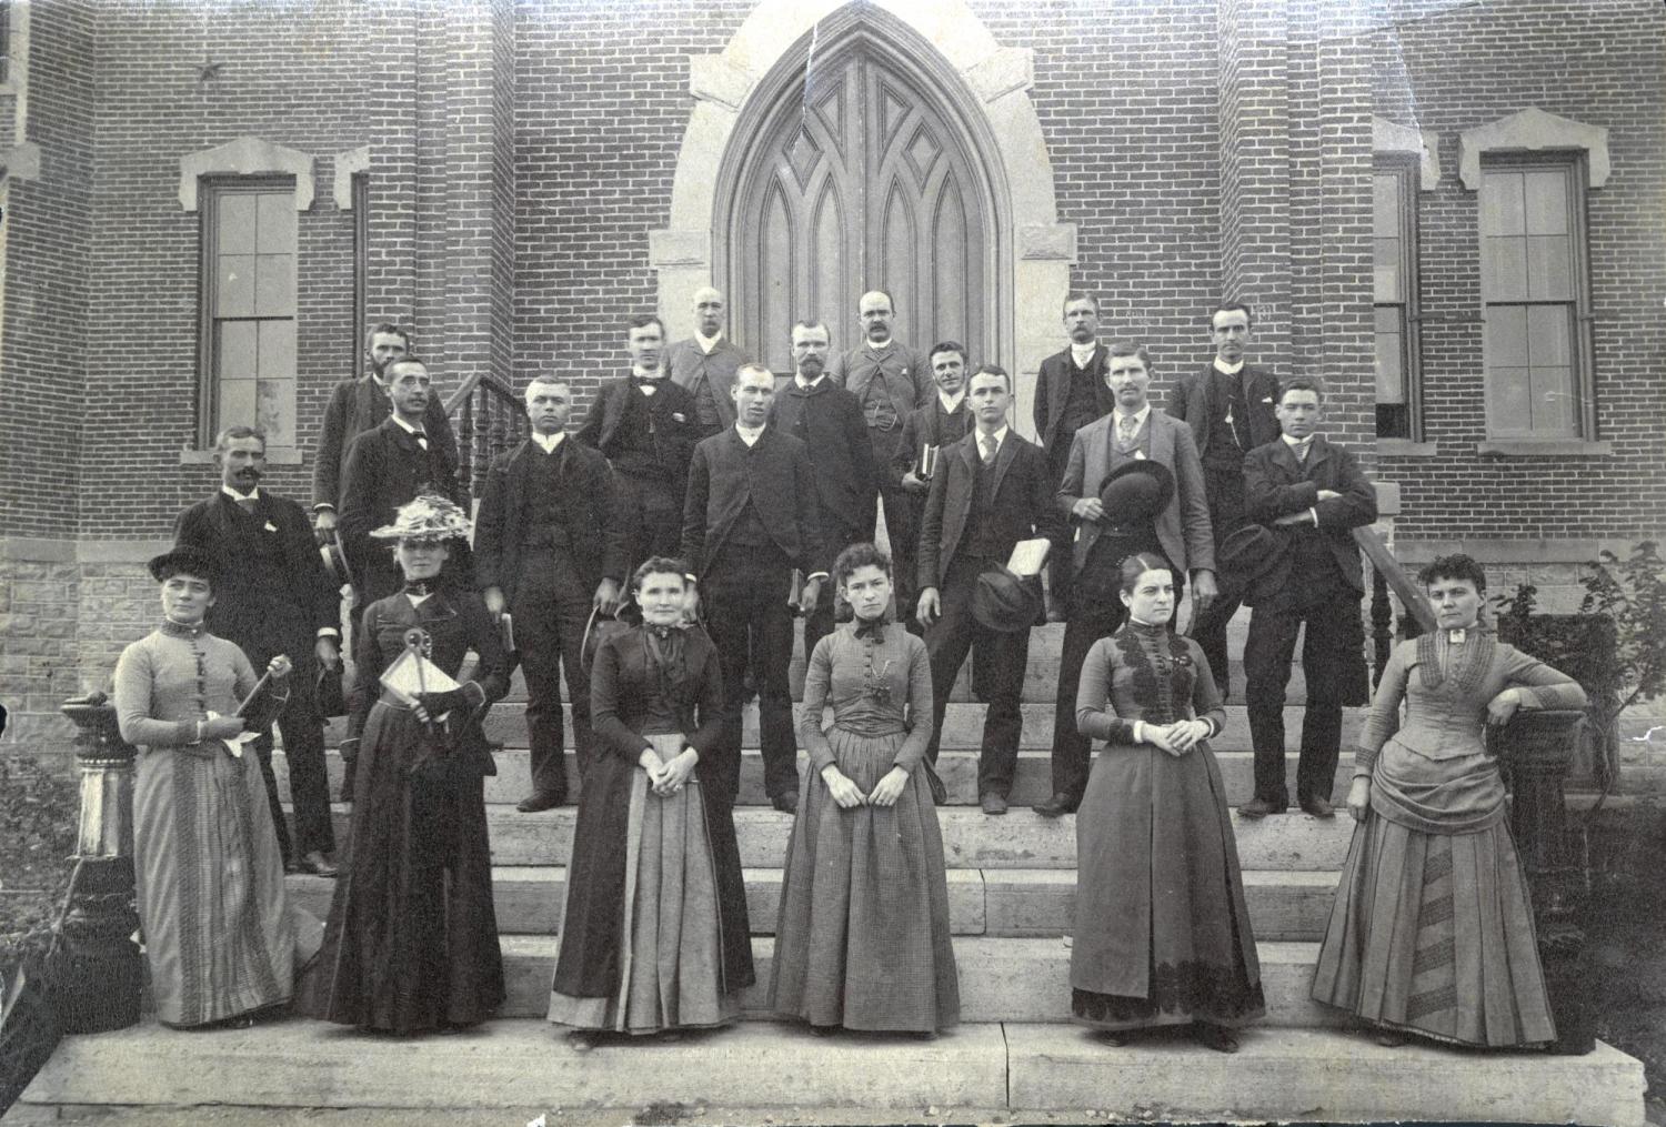
<instances>
[{"instance_id":1,"label":"large pointed-arch wooden door with carved tracery behind the group","mask_svg":"<svg viewBox=\"0 0 1666 1127\"><path fill-rule=\"evenodd\" d=\"M993 360L990 193L946 102L865 35L810 73L768 112L718 233L735 340L785 375L793 321L820 316L853 348L856 301L885 290L898 338Z\"/></svg>"}]
</instances>

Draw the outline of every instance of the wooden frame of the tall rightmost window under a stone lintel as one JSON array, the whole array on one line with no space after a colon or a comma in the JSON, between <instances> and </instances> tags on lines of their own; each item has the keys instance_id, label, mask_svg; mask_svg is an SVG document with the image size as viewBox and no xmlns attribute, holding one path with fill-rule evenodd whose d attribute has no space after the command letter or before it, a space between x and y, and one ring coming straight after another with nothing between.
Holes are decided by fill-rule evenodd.
<instances>
[{"instance_id":1,"label":"wooden frame of the tall rightmost window under a stone lintel","mask_svg":"<svg viewBox=\"0 0 1666 1127\"><path fill-rule=\"evenodd\" d=\"M1529 173L1529 171L1554 171L1561 173L1566 190L1568 190L1568 258L1569 258L1569 275L1573 286L1571 301L1491 301L1486 293L1486 238L1481 198L1484 191L1484 178L1493 171L1511 171L1511 173ZM1589 181L1588 171L1588 153L1579 148L1556 148L1556 150L1539 150L1539 151L1488 151L1481 156L1481 180L1476 185L1476 266L1479 273L1479 320L1481 320L1481 391L1483 391L1483 424L1486 428L1486 446L1504 444L1504 446L1556 446L1568 443L1594 443L1598 439L1596 433L1596 340L1594 340L1594 311L1591 303L1591 226L1589 226L1589 200L1586 185ZM1488 310L1493 306L1568 306L1573 315L1573 338L1568 348L1568 361L1573 368L1569 375L1571 393L1576 398L1576 408L1573 411L1574 433L1573 434L1549 434L1534 431L1494 431L1493 429L1493 378L1491 378L1491 361L1486 351L1486 323Z\"/></svg>"}]
</instances>

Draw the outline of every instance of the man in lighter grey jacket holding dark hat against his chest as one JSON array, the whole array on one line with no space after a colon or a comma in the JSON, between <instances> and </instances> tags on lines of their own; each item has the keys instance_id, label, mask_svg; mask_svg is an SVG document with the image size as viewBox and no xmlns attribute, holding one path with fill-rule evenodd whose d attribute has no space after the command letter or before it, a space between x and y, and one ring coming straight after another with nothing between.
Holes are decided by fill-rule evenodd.
<instances>
[{"instance_id":1,"label":"man in lighter grey jacket holding dark hat against his chest","mask_svg":"<svg viewBox=\"0 0 1666 1127\"><path fill-rule=\"evenodd\" d=\"M1136 551L1168 559L1176 603L1188 571L1195 604L1206 608L1216 594L1210 504L1191 431L1151 406L1151 361L1140 345L1110 346L1105 383L1116 406L1076 431L1058 488L1058 508L1076 536L1053 712L1053 797L1035 807L1046 817L1073 812L1088 786L1090 741L1076 734L1076 686L1093 643L1128 614L1116 598L1121 561Z\"/></svg>"}]
</instances>

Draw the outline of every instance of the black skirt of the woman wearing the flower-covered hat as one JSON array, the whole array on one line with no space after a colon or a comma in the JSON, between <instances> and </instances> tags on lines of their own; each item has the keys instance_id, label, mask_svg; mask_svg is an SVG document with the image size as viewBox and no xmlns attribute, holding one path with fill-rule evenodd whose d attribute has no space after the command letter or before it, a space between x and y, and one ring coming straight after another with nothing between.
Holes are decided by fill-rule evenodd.
<instances>
[{"instance_id":1,"label":"black skirt of the woman wearing the flower-covered hat","mask_svg":"<svg viewBox=\"0 0 1666 1127\"><path fill-rule=\"evenodd\" d=\"M310 1015L410 1034L473 1025L501 1005L485 789L460 766L428 754L410 711L370 711Z\"/></svg>"}]
</instances>

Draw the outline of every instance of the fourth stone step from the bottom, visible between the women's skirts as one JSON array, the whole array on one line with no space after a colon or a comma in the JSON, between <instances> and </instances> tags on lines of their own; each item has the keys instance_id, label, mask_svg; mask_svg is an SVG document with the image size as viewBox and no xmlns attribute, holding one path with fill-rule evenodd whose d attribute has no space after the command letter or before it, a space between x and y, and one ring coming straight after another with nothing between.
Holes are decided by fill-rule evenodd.
<instances>
[{"instance_id":1,"label":"fourth stone step from the bottom, visible between the women's skirts","mask_svg":"<svg viewBox=\"0 0 1666 1127\"><path fill-rule=\"evenodd\" d=\"M348 811L332 807L338 841L348 836ZM573 849L576 809L563 806L541 814L520 814L515 807L486 809L495 866L560 866ZM975 807L948 806L938 811L943 827L943 857L948 869L1070 869L1076 866L1076 817L1041 817L1013 809L990 817ZM780 811L735 807L735 836L740 862L748 869L780 869L791 836L793 816ZM1273 814L1258 821L1233 819L1238 857L1245 869L1339 872L1353 837L1346 814L1316 819L1306 814Z\"/></svg>"}]
</instances>

